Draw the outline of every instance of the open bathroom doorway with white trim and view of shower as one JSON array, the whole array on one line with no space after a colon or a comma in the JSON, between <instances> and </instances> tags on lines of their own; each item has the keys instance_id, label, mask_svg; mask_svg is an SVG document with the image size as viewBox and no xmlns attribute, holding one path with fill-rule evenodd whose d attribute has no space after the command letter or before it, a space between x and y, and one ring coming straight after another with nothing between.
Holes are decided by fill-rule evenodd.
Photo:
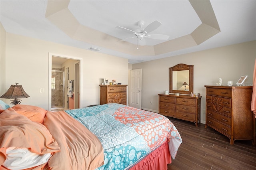
<instances>
[{"instance_id":1,"label":"open bathroom doorway with white trim and view of shower","mask_svg":"<svg viewBox=\"0 0 256 170\"><path fill-rule=\"evenodd\" d=\"M53 70L53 71L52 71ZM65 109L78 109L80 108L82 101L82 58L70 57L49 53L49 98L48 98L48 111L60 111ZM57 77L63 77L60 82L56 82L59 78L53 75L59 75ZM60 76L62 75L62 76ZM55 82L54 79L55 78ZM73 97L68 97L68 81L72 80ZM52 83L53 82L53 83ZM52 86L55 85L55 90ZM78 85L78 87L76 86ZM61 88L62 87L62 88ZM58 88L58 89L57 89ZM62 91L61 91L62 89ZM58 91L58 95L55 92ZM60 97L60 94L63 94ZM78 97L77 100L75 98ZM63 99L63 100L62 100ZM63 103L62 103L63 101ZM61 103L61 105L60 105ZM70 107L72 104L73 107Z\"/></svg>"}]
</instances>

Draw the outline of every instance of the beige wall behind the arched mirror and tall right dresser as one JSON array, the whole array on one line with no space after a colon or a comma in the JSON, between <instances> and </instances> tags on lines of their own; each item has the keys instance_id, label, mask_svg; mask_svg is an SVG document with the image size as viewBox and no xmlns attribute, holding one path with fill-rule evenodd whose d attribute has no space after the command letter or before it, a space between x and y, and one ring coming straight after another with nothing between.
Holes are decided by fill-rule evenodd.
<instances>
[{"instance_id":1,"label":"beige wall behind the arched mirror and tall right dresser","mask_svg":"<svg viewBox=\"0 0 256 170\"><path fill-rule=\"evenodd\" d=\"M132 65L142 69L142 108L158 112L158 93L169 89L169 67L184 63L194 65L194 92L202 95L201 120L205 123L205 87L215 85L219 77L223 85L248 75L245 84L252 85L256 41L167 57ZM150 104L152 101L152 104Z\"/></svg>"}]
</instances>

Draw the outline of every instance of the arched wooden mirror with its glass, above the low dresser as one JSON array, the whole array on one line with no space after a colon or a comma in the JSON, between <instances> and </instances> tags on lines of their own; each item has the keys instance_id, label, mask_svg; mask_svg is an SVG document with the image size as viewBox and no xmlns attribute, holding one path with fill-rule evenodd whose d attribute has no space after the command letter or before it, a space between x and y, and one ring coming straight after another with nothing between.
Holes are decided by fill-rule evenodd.
<instances>
[{"instance_id":1,"label":"arched wooden mirror with its glass, above the low dresser","mask_svg":"<svg viewBox=\"0 0 256 170\"><path fill-rule=\"evenodd\" d=\"M170 67L169 76L170 93L193 93L194 65L177 64Z\"/></svg>"}]
</instances>

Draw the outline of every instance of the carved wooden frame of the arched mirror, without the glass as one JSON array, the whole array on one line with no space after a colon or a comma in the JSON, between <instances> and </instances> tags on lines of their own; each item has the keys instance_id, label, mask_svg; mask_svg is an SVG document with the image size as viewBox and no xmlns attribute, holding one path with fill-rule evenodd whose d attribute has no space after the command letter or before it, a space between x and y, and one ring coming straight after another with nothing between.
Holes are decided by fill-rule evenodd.
<instances>
[{"instance_id":1,"label":"carved wooden frame of the arched mirror, without the glass","mask_svg":"<svg viewBox=\"0 0 256 170\"><path fill-rule=\"evenodd\" d=\"M172 71L189 70L189 91L173 90L172 89ZM194 88L194 65L177 64L174 67L169 68L169 93L180 93L190 95L193 93Z\"/></svg>"}]
</instances>

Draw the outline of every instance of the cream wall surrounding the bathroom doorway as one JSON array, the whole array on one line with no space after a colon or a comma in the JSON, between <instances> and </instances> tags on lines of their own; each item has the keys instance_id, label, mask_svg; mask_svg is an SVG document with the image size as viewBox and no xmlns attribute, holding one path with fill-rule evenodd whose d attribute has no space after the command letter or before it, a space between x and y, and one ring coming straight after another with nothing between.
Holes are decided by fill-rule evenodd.
<instances>
[{"instance_id":1,"label":"cream wall surrounding the bathroom doorway","mask_svg":"<svg viewBox=\"0 0 256 170\"><path fill-rule=\"evenodd\" d=\"M99 84L104 77L128 84L128 59L7 33L6 69L1 67L6 72L4 91L18 82L30 95L21 104L48 109L49 53L83 59L81 107L99 104Z\"/></svg>"}]
</instances>

